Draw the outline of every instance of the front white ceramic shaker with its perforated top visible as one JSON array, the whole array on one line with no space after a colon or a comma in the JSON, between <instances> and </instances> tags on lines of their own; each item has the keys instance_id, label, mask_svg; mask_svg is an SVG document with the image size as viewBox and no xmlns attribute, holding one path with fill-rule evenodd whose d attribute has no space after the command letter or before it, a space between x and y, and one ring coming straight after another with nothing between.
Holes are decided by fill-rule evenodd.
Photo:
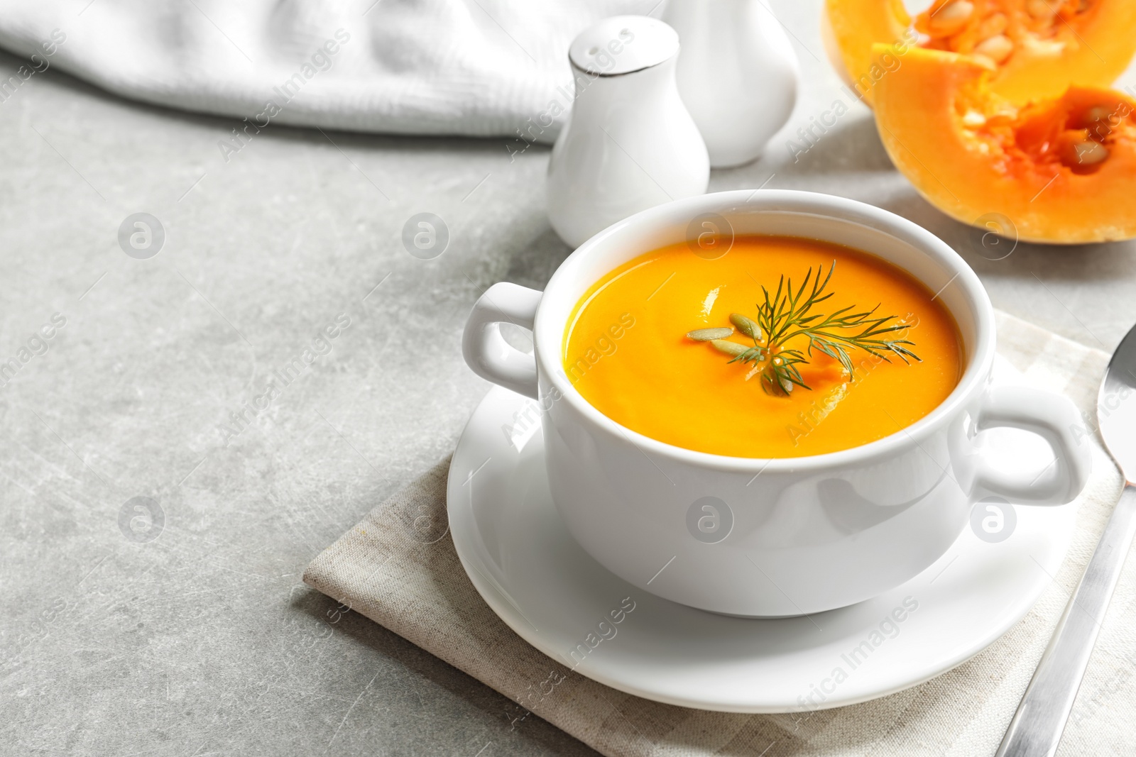
<instances>
[{"instance_id":1,"label":"front white ceramic shaker with its perforated top visible","mask_svg":"<svg viewBox=\"0 0 1136 757\"><path fill-rule=\"evenodd\" d=\"M613 16L568 50L576 99L552 148L549 220L571 246L654 205L702 194L705 145L675 85L678 35L646 16Z\"/></svg>"}]
</instances>

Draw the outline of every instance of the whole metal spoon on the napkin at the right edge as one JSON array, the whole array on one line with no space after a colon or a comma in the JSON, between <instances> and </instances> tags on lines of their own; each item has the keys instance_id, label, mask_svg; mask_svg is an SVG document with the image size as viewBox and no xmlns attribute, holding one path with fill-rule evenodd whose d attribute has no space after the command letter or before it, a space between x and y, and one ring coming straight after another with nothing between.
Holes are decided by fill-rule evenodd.
<instances>
[{"instance_id":1,"label":"whole metal spoon on the napkin at the right edge","mask_svg":"<svg viewBox=\"0 0 1136 757\"><path fill-rule=\"evenodd\" d=\"M1021 697L995 757L1050 757L1058 749L1096 633L1136 533L1136 327L1104 371L1096 419L1127 486Z\"/></svg>"}]
</instances>

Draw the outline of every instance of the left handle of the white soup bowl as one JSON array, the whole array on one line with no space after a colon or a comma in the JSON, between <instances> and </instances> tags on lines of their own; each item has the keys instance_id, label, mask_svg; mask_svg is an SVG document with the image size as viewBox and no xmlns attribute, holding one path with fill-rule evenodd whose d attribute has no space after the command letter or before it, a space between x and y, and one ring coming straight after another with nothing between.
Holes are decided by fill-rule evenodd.
<instances>
[{"instance_id":1,"label":"left handle of the white soup bowl","mask_svg":"<svg viewBox=\"0 0 1136 757\"><path fill-rule=\"evenodd\" d=\"M461 354L483 379L537 399L536 356L517 350L501 336L501 323L532 329L544 293L502 281L478 297L466 321Z\"/></svg>"}]
</instances>

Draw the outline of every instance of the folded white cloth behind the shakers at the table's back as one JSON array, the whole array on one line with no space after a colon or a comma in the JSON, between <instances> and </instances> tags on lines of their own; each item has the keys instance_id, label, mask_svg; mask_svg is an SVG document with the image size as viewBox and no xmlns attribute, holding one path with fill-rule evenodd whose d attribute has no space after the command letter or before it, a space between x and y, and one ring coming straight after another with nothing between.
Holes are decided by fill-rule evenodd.
<instances>
[{"instance_id":1,"label":"folded white cloth behind the shakers at the table's back","mask_svg":"<svg viewBox=\"0 0 1136 757\"><path fill-rule=\"evenodd\" d=\"M0 75L0 100L58 66L126 98L237 121L516 136L551 100L565 107L558 87L571 91L568 44L578 32L659 5L0 0L0 47L30 58L10 78ZM525 128L542 142L558 129Z\"/></svg>"}]
</instances>

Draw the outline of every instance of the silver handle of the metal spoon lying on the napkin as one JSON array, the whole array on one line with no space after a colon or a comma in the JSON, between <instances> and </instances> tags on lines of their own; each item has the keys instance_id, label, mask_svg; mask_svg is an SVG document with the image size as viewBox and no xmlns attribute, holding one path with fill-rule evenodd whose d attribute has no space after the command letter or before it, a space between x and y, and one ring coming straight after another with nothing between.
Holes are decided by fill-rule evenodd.
<instances>
[{"instance_id":1,"label":"silver handle of the metal spoon lying on the napkin","mask_svg":"<svg viewBox=\"0 0 1136 757\"><path fill-rule=\"evenodd\" d=\"M995 757L1052 757L1058 750L1134 532L1136 488L1129 485L1066 605Z\"/></svg>"}]
</instances>

